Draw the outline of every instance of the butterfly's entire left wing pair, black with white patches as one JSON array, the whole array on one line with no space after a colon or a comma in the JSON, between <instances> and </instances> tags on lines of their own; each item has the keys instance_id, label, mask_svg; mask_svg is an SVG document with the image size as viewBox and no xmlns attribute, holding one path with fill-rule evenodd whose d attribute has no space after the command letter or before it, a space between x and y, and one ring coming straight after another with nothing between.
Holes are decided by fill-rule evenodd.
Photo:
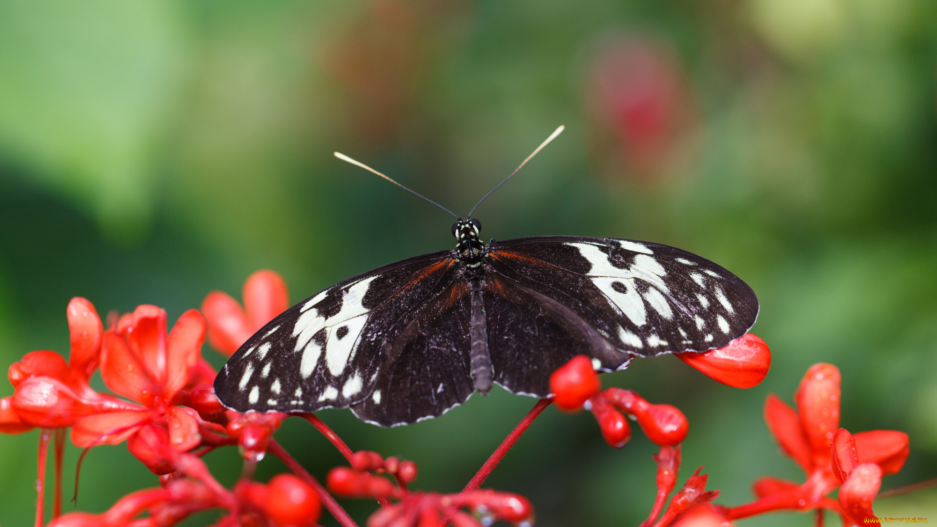
<instances>
[{"instance_id":1,"label":"butterfly's entire left wing pair, black with white patches","mask_svg":"<svg viewBox=\"0 0 937 527\"><path fill-rule=\"evenodd\" d=\"M216 394L239 412L314 412L366 399L356 412L384 426L442 414L471 393L463 385L470 386L464 283L448 250L339 282L247 339L218 373ZM454 382L460 368L462 384ZM405 370L414 378L432 371L401 384ZM437 380L443 389L427 403L424 384Z\"/></svg>"}]
</instances>

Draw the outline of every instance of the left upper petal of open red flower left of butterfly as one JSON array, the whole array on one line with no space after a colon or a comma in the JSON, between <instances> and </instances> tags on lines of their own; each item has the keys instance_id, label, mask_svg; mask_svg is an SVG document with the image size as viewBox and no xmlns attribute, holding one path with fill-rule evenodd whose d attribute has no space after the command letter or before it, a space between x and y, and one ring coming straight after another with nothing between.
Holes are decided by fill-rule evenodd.
<instances>
[{"instance_id":1,"label":"left upper petal of open red flower left of butterfly","mask_svg":"<svg viewBox=\"0 0 937 527\"><path fill-rule=\"evenodd\" d=\"M147 406L153 403L153 398L159 393L159 388L143 372L137 357L130 353L126 339L112 329L104 332L101 378L115 394Z\"/></svg>"}]
</instances>

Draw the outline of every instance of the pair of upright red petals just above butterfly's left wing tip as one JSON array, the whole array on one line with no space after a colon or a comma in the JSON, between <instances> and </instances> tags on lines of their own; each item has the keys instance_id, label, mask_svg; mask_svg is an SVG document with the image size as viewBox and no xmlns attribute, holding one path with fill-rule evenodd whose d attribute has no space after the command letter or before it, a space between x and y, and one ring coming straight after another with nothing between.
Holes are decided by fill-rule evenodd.
<instances>
[{"instance_id":1,"label":"pair of upright red petals just above butterfly's left wing tip","mask_svg":"<svg viewBox=\"0 0 937 527\"><path fill-rule=\"evenodd\" d=\"M287 284L274 271L262 269L244 282L244 305L221 291L213 291L201 302L208 320L208 343L219 353L231 356L263 324L290 307Z\"/></svg>"}]
</instances>

